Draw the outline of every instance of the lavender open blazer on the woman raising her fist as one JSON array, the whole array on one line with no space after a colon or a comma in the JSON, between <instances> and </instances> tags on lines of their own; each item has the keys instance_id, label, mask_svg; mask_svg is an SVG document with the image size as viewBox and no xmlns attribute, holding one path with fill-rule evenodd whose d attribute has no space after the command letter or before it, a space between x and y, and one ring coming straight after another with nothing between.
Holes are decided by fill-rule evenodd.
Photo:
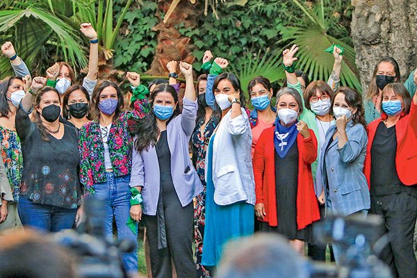
<instances>
[{"instance_id":1,"label":"lavender open blazer on the woman raising her fist","mask_svg":"<svg viewBox=\"0 0 417 278\"><path fill-rule=\"evenodd\" d=\"M184 97L182 114L167 125L167 140L171 152L171 174L175 191L182 206L202 192L202 183L188 152L190 137L195 128L197 101ZM142 186L143 213L156 215L160 189L160 173L155 146L137 152L133 148L130 186Z\"/></svg>"}]
</instances>

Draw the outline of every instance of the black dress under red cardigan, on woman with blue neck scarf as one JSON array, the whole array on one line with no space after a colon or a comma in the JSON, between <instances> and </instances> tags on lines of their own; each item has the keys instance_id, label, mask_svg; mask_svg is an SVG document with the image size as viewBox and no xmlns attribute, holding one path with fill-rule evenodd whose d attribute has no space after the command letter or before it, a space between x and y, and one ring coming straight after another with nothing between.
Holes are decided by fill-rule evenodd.
<instances>
[{"instance_id":1,"label":"black dress under red cardigan, on woman with blue neck scarf","mask_svg":"<svg viewBox=\"0 0 417 278\"><path fill-rule=\"evenodd\" d=\"M297 230L298 147L294 142L284 158L275 152L275 190L278 226L262 222L261 231L274 231L289 240L309 241L309 227Z\"/></svg>"}]
</instances>

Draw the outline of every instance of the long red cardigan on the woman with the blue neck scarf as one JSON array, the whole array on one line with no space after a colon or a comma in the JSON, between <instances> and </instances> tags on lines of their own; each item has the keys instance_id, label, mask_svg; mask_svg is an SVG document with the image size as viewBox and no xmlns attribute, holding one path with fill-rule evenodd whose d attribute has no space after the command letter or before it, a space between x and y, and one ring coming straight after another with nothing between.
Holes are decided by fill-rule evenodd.
<instances>
[{"instance_id":1,"label":"long red cardigan on the woman with the blue neck scarf","mask_svg":"<svg viewBox=\"0 0 417 278\"><path fill-rule=\"evenodd\" d=\"M265 129L255 147L254 176L256 204L265 205L265 217L261 221L270 226L278 226L277 197L275 191L275 147L274 129ZM320 220L316 194L314 193L311 163L317 157L317 139L310 129L310 137L304 139L297 135L298 147L298 184L297 184L297 228L303 229L308 224Z\"/></svg>"}]
</instances>

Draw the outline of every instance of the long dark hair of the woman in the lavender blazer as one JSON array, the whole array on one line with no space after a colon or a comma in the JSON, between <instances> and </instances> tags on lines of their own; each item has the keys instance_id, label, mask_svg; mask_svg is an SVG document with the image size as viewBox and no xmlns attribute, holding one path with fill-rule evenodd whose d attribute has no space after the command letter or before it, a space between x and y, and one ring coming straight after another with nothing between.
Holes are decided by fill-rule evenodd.
<instances>
[{"instance_id":1,"label":"long dark hair of the woman in the lavender blazer","mask_svg":"<svg viewBox=\"0 0 417 278\"><path fill-rule=\"evenodd\" d=\"M154 114L154 110L152 109L154 106L154 100L155 97L160 92L169 92L172 97L174 98L174 103L177 104L177 107L174 110L174 113L170 117L170 120L167 121L167 124L174 118L179 115L180 109L178 105L178 95L177 91L172 87L172 85L168 85L165 83L156 85L154 92L152 93L150 99L149 99L149 106L151 107L149 114L140 120L138 124L138 129L136 130L136 140L135 140L135 149L138 152L141 152L144 149L149 149L150 145L155 145L156 141L158 140L158 135L160 133L160 130L158 129L158 126L156 125L156 116Z\"/></svg>"}]
</instances>

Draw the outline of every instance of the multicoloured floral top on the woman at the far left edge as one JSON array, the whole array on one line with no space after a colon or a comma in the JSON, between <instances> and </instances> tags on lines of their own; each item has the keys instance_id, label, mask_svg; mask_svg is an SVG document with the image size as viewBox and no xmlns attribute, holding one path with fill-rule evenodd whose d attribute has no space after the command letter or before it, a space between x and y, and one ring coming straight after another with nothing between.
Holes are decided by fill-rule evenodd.
<instances>
[{"instance_id":1,"label":"multicoloured floral top on the woman at the far left edge","mask_svg":"<svg viewBox=\"0 0 417 278\"><path fill-rule=\"evenodd\" d=\"M20 138L16 131L0 126L1 158L3 158L6 176L12 188L13 199L19 201L19 186L22 179L23 157Z\"/></svg>"}]
</instances>

